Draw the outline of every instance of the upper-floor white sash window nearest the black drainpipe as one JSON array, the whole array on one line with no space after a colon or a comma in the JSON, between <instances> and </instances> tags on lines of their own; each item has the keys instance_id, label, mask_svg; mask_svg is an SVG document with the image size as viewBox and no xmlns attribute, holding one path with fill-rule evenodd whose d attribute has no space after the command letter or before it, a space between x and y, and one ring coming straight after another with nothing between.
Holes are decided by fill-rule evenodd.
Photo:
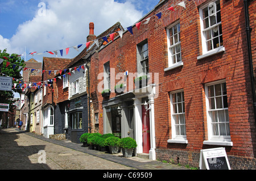
<instances>
[{"instance_id":1,"label":"upper-floor white sash window nearest the black drainpipe","mask_svg":"<svg viewBox=\"0 0 256 181\"><path fill-rule=\"evenodd\" d=\"M200 17L204 54L223 45L220 0L201 7Z\"/></svg>"}]
</instances>

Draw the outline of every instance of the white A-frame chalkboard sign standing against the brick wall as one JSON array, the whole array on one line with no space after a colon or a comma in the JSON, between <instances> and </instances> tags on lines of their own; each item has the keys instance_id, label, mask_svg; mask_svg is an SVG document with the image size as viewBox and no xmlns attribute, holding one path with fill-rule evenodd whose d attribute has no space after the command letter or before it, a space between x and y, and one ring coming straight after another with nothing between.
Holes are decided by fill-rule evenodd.
<instances>
[{"instance_id":1,"label":"white A-frame chalkboard sign standing against the brick wall","mask_svg":"<svg viewBox=\"0 0 256 181\"><path fill-rule=\"evenodd\" d=\"M199 169L230 170L225 148L200 150Z\"/></svg>"}]
</instances>

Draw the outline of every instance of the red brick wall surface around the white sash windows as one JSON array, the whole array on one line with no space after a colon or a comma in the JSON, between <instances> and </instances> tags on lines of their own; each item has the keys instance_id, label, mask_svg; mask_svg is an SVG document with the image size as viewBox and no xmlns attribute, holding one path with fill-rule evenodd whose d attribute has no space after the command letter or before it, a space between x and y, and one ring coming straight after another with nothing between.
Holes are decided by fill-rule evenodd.
<instances>
[{"instance_id":1,"label":"red brick wall surface around the white sash windows","mask_svg":"<svg viewBox=\"0 0 256 181\"><path fill-rule=\"evenodd\" d=\"M202 54L199 6L203 2L205 1L185 1L186 9L174 6L175 11L164 11L174 5L173 1L166 1L145 17L146 19L164 11L161 19L153 16L150 23L141 24L139 31L134 26L134 35L127 31L122 39L119 38L113 43L109 43L98 52L98 60L96 60L94 54L91 60L91 74L94 74L91 77L92 91L97 91L96 75L104 71L103 65L105 62L110 61L110 68L115 68L116 71L137 72L136 47L138 43L147 39L150 72L159 73L159 86L156 86L156 89L159 90L159 96L155 99L156 149L179 150L199 154L200 149L212 147L203 145L203 141L208 140L204 87L205 83L225 79L228 94L230 134L233 142L233 146L226 147L227 154L253 158L255 157L256 135L247 60L243 2L220 1L225 52L197 60L197 56ZM251 43L254 66L256 66L255 17L253 16L255 11L255 1L251 1L250 22L251 28L253 28ZM166 28L178 19L181 27L181 56L184 65L164 72L168 62ZM96 65L98 65L97 69L95 69ZM115 80L115 83L117 82L118 80ZM154 79L152 79L152 82L154 82ZM169 92L179 89L184 89L188 144L168 144L167 140L171 138ZM110 98L114 96L115 93L112 93ZM98 92L99 104L102 103L102 100L101 92ZM99 106L99 113L103 113L102 106ZM102 133L103 117L99 117L99 121L100 132ZM161 159L160 156L158 158ZM189 158L186 158L186 161L188 160ZM196 165L196 161L192 161L192 164Z\"/></svg>"}]
</instances>

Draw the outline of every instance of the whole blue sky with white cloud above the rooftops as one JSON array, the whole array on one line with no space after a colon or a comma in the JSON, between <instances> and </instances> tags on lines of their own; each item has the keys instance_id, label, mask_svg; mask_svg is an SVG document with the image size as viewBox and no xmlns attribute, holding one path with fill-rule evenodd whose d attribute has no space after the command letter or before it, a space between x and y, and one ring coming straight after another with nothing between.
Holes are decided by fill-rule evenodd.
<instances>
[{"instance_id":1,"label":"whole blue sky with white cloud above the rooftops","mask_svg":"<svg viewBox=\"0 0 256 181\"><path fill-rule=\"evenodd\" d=\"M0 49L42 61L49 53L28 56L30 52L59 50L86 43L89 22L95 35L116 22L124 28L133 25L158 4L159 0L1 0ZM40 11L46 5L46 11ZM44 14L39 14L44 12ZM69 50L63 58L73 58L79 51ZM54 55L55 56L55 55ZM53 57L54 57L53 56ZM61 57L60 55L58 57ZM24 56L22 58L25 58Z\"/></svg>"}]
</instances>

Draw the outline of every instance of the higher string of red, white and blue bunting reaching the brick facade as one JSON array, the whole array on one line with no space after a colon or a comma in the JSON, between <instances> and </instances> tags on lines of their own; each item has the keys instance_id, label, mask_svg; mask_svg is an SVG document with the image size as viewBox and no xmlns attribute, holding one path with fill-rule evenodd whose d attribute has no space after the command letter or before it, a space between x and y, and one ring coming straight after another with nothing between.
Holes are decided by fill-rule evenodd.
<instances>
[{"instance_id":1,"label":"higher string of red, white and blue bunting reaching the brick facade","mask_svg":"<svg viewBox=\"0 0 256 181\"><path fill-rule=\"evenodd\" d=\"M188 0L188 1L190 1L190 0ZM183 1L183 2L180 2L180 3L177 3L177 5L178 5L178 6L181 6L181 7L184 7L184 9L186 8L184 1ZM164 10L164 11L175 11L175 10L174 10L174 6L171 6L171 7L169 7L167 10ZM143 21L144 21L143 24L148 24L148 23L150 22L150 19L151 19L153 16L157 16L158 19L160 19L160 18L162 18L162 14L163 14L164 11L158 12L157 14L152 15L152 16L150 16L150 17L147 18L147 19L143 19L141 22L135 23L134 25L135 25L135 26L137 27L137 29L139 30L139 28L140 28L140 26L141 26L141 23L142 23ZM133 25L133 26L134 26L134 25ZM131 33L131 35L133 35L133 26L129 26L129 27L125 28L127 31L129 31L129 32ZM119 36L121 37L121 39L122 39L122 35L123 35L123 32L124 32L124 31L125 31L125 30L117 31L117 32L119 33ZM116 33L116 32L115 32L115 33ZM72 47L65 48L66 54L69 53L69 48L74 48L75 50L79 50L79 48L80 48L83 44L86 45L86 48L87 48L87 49L89 48L90 43L93 43L93 42L94 42L94 43L97 45L97 47L98 47L98 41L101 40L101 39L104 40L104 41L106 41L106 43L109 43L108 37L110 37L110 39L111 39L112 41L114 41L114 33L111 33L110 35L106 35L106 36L104 36L104 37L100 37L100 38L98 38L98 39L95 39L95 40L92 40L92 41L88 41L88 42L86 42L86 43L82 43L82 44L79 44L79 45L76 45L76 46L72 46ZM57 51L58 51L58 50L54 50L54 51L45 51L45 52L48 52L48 53L50 53L50 54L55 54L56 57L57 57ZM62 56L63 56L63 49L60 49L59 51L60 51L60 55L61 55L61 57L62 57ZM43 52L43 53L45 53L45 52ZM53 52L54 52L54 53L53 53ZM42 53L31 52L31 53L29 53L29 54L32 55L32 56L34 56L34 54L42 54Z\"/></svg>"}]
</instances>

